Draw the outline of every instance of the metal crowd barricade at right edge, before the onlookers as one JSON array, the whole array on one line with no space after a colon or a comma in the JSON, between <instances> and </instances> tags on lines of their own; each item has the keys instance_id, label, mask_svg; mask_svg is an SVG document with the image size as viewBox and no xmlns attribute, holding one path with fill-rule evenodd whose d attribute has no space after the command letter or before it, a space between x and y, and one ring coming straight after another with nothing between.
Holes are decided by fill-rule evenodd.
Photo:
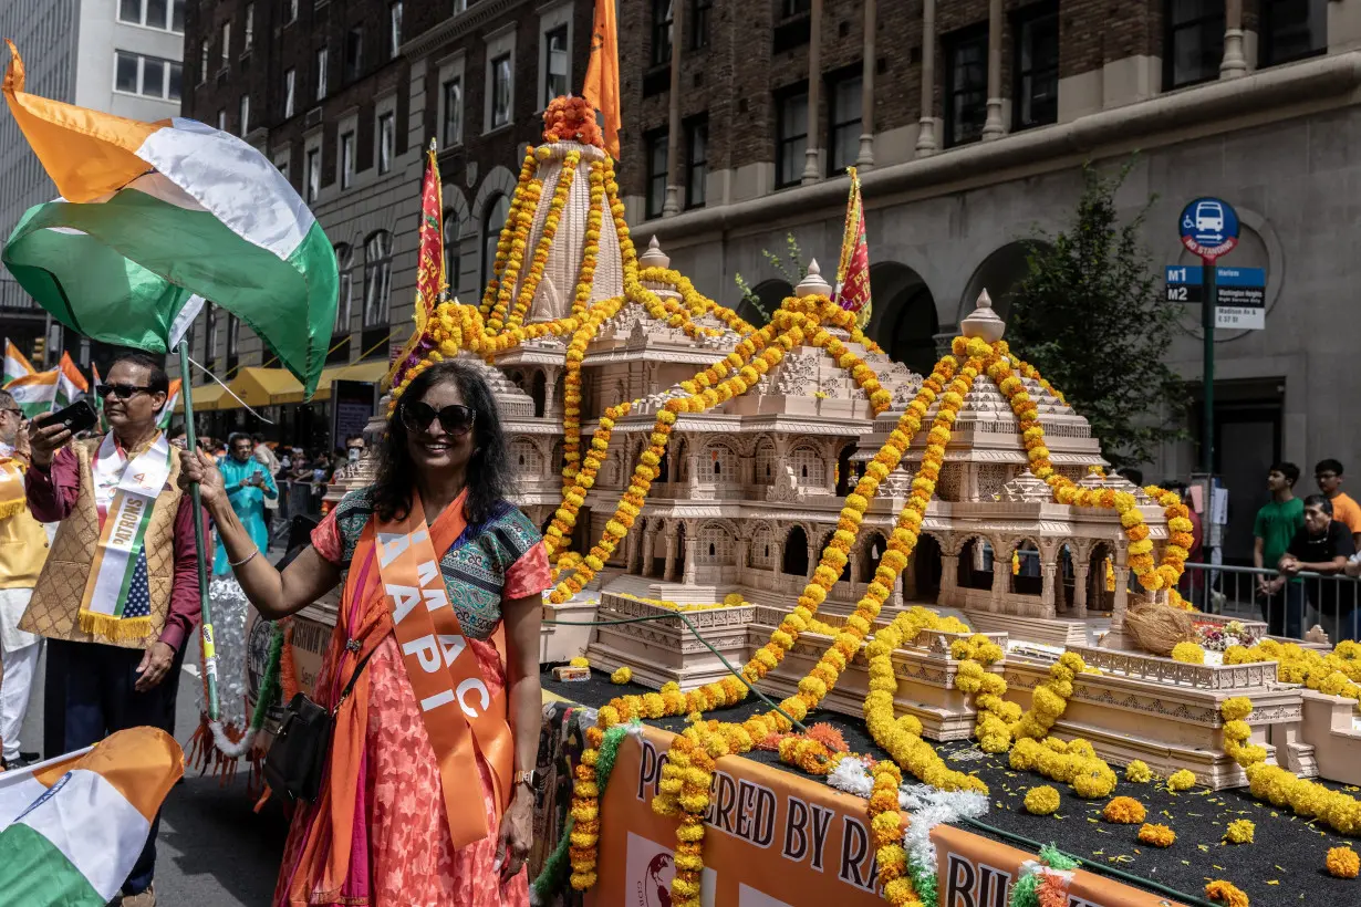
<instances>
[{"instance_id":1,"label":"metal crowd barricade at right edge, before the onlookers","mask_svg":"<svg viewBox=\"0 0 1361 907\"><path fill-rule=\"evenodd\" d=\"M1207 613L1264 620L1273 636L1304 639L1319 626L1334 643L1361 640L1361 579L1351 577L1188 563L1177 592Z\"/></svg>"}]
</instances>

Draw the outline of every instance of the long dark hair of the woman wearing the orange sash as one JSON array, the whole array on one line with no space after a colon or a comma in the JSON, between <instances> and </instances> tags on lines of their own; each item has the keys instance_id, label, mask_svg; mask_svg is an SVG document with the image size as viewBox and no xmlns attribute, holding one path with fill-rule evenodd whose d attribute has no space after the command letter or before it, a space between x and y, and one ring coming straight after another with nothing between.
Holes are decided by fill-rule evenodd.
<instances>
[{"instance_id":1,"label":"long dark hair of the woman wearing the orange sash","mask_svg":"<svg viewBox=\"0 0 1361 907\"><path fill-rule=\"evenodd\" d=\"M411 510L415 464L407 453L407 426L401 422L401 407L416 401L438 383L452 381L465 407L475 413L472 423L472 458L468 461L468 498L464 513L470 524L491 517L493 509L510 496L514 481L510 475L510 453L501 416L491 388L478 367L467 362L446 359L416 375L392 409L388 431L378 445L378 477L373 483L373 507L385 521L403 519Z\"/></svg>"}]
</instances>

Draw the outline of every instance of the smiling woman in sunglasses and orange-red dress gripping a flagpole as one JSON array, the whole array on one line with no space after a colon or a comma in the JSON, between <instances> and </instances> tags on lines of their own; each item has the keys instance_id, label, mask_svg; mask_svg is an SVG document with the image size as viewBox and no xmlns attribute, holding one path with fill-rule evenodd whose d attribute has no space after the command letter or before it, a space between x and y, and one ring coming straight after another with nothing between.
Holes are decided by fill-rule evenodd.
<instances>
[{"instance_id":1,"label":"smiling woman in sunglasses and orange-red dress gripping a flagpole","mask_svg":"<svg viewBox=\"0 0 1361 907\"><path fill-rule=\"evenodd\" d=\"M314 691L339 706L335 737L321 793L294 815L274 903L525 907L548 566L505 500L506 443L476 367L421 373L380 457L377 481L279 572L234 521L211 461L185 454L182 481L200 483L263 616L299 611L347 571Z\"/></svg>"}]
</instances>

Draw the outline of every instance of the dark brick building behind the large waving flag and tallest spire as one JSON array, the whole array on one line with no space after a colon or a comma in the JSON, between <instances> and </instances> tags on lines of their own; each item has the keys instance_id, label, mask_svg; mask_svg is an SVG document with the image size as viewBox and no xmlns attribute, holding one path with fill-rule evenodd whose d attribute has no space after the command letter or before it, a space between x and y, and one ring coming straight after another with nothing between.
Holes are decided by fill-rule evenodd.
<instances>
[{"instance_id":1,"label":"dark brick building behind the large waving flag and tallest spire","mask_svg":"<svg viewBox=\"0 0 1361 907\"><path fill-rule=\"evenodd\" d=\"M591 15L580 0L189 4L185 116L241 135L269 156L335 246L340 292L329 366L385 363L411 332L431 137L450 288L478 298L485 250L494 252L523 147L540 139L551 97L580 91ZM211 307L191 348L225 381L271 364L248 328ZM269 407L265 415L282 423L280 435L309 443L321 441L327 404ZM229 411L212 427L255 420Z\"/></svg>"}]
</instances>

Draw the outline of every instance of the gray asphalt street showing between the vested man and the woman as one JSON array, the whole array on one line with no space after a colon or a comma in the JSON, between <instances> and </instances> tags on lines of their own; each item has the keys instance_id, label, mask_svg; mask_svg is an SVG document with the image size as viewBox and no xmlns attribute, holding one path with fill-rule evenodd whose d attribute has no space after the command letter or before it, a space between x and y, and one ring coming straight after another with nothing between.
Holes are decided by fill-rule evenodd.
<instances>
[{"instance_id":1,"label":"gray asphalt street showing between the vested man and the woman","mask_svg":"<svg viewBox=\"0 0 1361 907\"><path fill-rule=\"evenodd\" d=\"M199 723L195 689L199 685L197 636L176 679L180 698L176 740L185 745ZM38 666L23 749L42 749L42 677ZM161 820L157 855L157 900L163 907L267 907L287 831L282 812L267 806L252 812L241 774L231 785L188 772L170 791Z\"/></svg>"}]
</instances>

